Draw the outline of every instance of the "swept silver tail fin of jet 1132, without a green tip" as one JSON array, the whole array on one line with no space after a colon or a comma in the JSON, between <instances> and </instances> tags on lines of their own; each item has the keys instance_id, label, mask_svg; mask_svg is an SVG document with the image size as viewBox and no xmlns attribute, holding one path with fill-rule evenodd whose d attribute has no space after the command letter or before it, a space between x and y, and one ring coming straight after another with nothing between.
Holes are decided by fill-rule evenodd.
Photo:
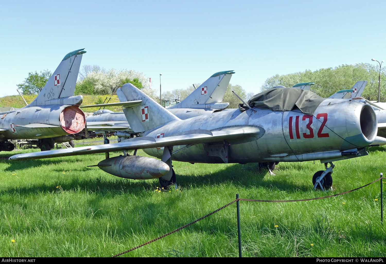
<instances>
[{"instance_id":1,"label":"swept silver tail fin of jet 1132, without a green tip","mask_svg":"<svg viewBox=\"0 0 386 264\"><path fill-rule=\"evenodd\" d=\"M117 95L120 102L142 101L139 105L123 109L130 128L136 133L153 130L171 121L179 120L131 83L118 88Z\"/></svg>"}]
</instances>

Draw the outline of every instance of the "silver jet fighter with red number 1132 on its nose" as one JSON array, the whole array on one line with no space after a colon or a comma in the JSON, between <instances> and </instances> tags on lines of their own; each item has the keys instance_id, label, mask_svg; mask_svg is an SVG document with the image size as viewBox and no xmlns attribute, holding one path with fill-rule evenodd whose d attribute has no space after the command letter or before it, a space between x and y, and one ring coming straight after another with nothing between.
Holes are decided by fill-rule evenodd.
<instances>
[{"instance_id":1,"label":"silver jet fighter with red number 1132 on its nose","mask_svg":"<svg viewBox=\"0 0 386 264\"><path fill-rule=\"evenodd\" d=\"M377 135L377 118L366 100L326 99L298 88L269 89L240 109L181 120L130 83L117 90L135 102L124 108L141 137L116 144L17 154L20 161L106 152L102 170L129 179L159 178L175 183L171 162L241 163L320 160L326 170L313 176L314 188L332 185L333 161L367 155ZM146 114L143 110L147 109ZM144 149L150 157L109 157L108 152ZM126 153L126 152L124 152ZM330 163L330 167L328 167ZM269 164L269 163L268 163Z\"/></svg>"}]
</instances>

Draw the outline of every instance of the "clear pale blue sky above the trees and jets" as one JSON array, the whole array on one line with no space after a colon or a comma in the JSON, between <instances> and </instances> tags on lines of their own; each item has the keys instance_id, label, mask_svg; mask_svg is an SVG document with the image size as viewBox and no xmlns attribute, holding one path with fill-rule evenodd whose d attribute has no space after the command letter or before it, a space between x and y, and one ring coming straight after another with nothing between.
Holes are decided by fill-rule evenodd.
<instances>
[{"instance_id":1,"label":"clear pale blue sky above the trees and jets","mask_svg":"<svg viewBox=\"0 0 386 264\"><path fill-rule=\"evenodd\" d=\"M30 71L83 64L134 69L163 90L217 71L258 92L274 74L386 59L382 1L8 1L0 3L0 96ZM310 80L312 81L312 80Z\"/></svg>"}]
</instances>

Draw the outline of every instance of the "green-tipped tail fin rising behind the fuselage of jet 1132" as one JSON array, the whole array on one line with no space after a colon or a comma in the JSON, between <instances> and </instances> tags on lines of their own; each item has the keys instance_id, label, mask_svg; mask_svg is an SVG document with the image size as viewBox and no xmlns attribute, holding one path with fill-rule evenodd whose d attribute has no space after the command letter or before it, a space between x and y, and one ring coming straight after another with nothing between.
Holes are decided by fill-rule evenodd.
<instances>
[{"instance_id":1,"label":"green-tipped tail fin rising behind the fuselage of jet 1132","mask_svg":"<svg viewBox=\"0 0 386 264\"><path fill-rule=\"evenodd\" d=\"M234 71L219 71L196 88L188 97L169 108L222 109L229 103L221 103Z\"/></svg>"}]
</instances>

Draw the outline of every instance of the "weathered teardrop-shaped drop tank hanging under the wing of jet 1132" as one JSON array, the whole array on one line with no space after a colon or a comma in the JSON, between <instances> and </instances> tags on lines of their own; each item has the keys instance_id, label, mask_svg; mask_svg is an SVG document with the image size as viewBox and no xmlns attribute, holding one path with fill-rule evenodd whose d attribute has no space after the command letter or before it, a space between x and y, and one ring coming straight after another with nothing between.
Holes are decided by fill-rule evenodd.
<instances>
[{"instance_id":1,"label":"weathered teardrop-shaped drop tank hanging under the wing of jet 1132","mask_svg":"<svg viewBox=\"0 0 386 264\"><path fill-rule=\"evenodd\" d=\"M156 179L169 172L168 164L142 156L117 156L98 163L103 171L126 179Z\"/></svg>"}]
</instances>

